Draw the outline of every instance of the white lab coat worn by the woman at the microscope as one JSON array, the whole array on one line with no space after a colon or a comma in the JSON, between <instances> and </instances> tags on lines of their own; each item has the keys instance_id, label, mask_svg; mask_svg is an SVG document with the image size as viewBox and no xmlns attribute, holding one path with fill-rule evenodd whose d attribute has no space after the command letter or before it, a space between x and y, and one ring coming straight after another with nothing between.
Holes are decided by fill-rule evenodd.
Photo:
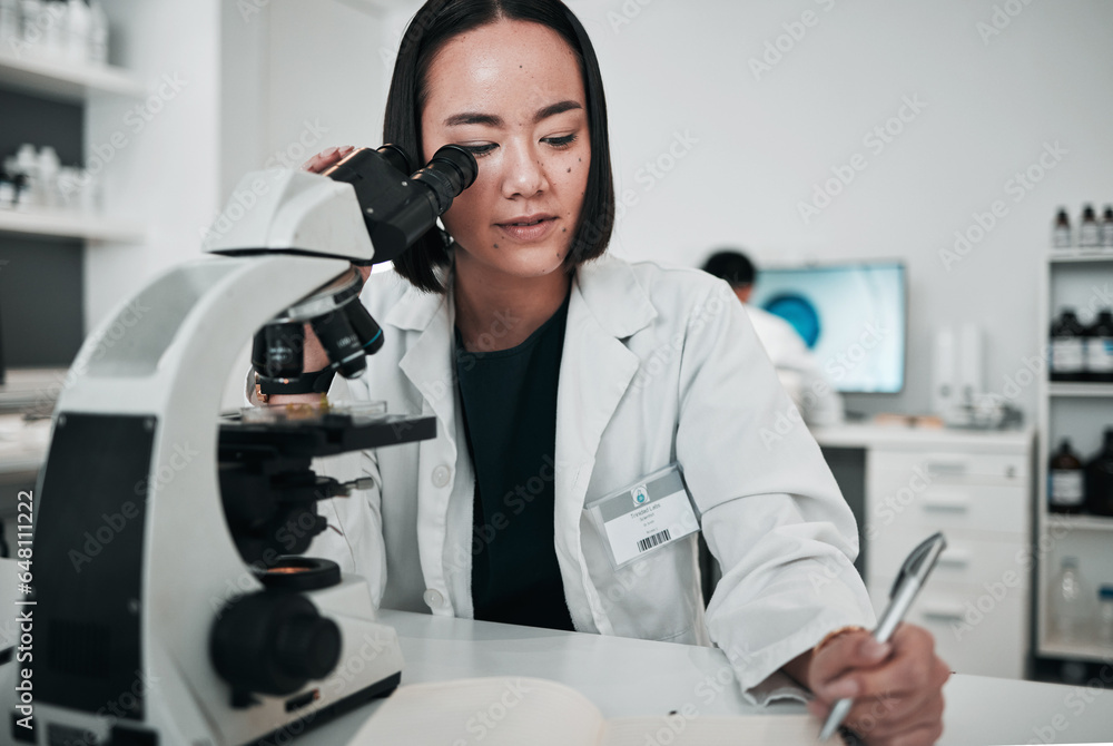
<instances>
[{"instance_id":1,"label":"white lab coat worn by the woman at the microscope","mask_svg":"<svg viewBox=\"0 0 1113 746\"><path fill-rule=\"evenodd\" d=\"M577 271L571 293L555 464L539 478L555 480L553 541L575 629L713 642L748 696L785 694L788 679L769 678L780 666L833 629L873 624L851 563L854 518L819 448L726 283L604 257ZM378 487L322 503L339 530L307 553L365 576L384 608L470 618L474 477L451 294L422 293L391 272L372 275L362 300L385 344L363 379L337 376L331 397L433 414L437 436L331 459L323 471ZM723 571L706 616L695 534L615 571L583 511L671 462Z\"/></svg>"}]
</instances>

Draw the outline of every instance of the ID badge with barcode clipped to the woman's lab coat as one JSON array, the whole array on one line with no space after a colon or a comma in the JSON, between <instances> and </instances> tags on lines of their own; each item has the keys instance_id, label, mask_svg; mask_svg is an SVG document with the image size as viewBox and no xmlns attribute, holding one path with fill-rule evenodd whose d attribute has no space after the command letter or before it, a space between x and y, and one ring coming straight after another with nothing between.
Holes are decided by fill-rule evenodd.
<instances>
[{"instance_id":1,"label":"ID badge with barcode clipped to the woman's lab coat","mask_svg":"<svg viewBox=\"0 0 1113 746\"><path fill-rule=\"evenodd\" d=\"M676 463L584 507L607 538L618 569L699 531L696 507Z\"/></svg>"}]
</instances>

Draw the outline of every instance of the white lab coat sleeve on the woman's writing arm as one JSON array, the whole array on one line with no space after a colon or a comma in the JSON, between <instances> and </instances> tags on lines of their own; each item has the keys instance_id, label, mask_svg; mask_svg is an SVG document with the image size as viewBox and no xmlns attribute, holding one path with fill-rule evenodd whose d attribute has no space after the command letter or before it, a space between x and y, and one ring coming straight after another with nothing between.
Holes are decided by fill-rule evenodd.
<instances>
[{"instance_id":1,"label":"white lab coat sleeve on the woman's writing arm","mask_svg":"<svg viewBox=\"0 0 1113 746\"><path fill-rule=\"evenodd\" d=\"M781 666L833 629L870 627L854 517L722 284L692 310L680 370L677 458L722 568L711 639L755 703L786 696Z\"/></svg>"}]
</instances>

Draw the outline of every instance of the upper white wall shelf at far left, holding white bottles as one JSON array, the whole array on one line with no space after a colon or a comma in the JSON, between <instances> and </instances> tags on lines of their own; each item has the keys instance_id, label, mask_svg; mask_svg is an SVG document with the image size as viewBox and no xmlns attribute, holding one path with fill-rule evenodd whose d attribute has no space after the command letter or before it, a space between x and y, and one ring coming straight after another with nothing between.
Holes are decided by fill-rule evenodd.
<instances>
[{"instance_id":1,"label":"upper white wall shelf at far left, holding white bottles","mask_svg":"<svg viewBox=\"0 0 1113 746\"><path fill-rule=\"evenodd\" d=\"M0 51L0 86L59 101L85 102L99 95L139 98L145 86L109 65L75 65Z\"/></svg>"}]
</instances>

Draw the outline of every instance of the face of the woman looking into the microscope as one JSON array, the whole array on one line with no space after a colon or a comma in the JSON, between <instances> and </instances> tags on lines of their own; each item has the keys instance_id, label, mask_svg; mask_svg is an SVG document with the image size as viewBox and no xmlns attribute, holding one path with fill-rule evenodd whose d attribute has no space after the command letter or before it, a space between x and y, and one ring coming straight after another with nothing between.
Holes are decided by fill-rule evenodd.
<instances>
[{"instance_id":1,"label":"face of the woman looking into the microscope","mask_svg":"<svg viewBox=\"0 0 1113 746\"><path fill-rule=\"evenodd\" d=\"M479 176L443 216L457 268L546 275L561 267L591 165L575 55L552 29L502 20L449 40L430 65L425 160L467 148Z\"/></svg>"}]
</instances>

